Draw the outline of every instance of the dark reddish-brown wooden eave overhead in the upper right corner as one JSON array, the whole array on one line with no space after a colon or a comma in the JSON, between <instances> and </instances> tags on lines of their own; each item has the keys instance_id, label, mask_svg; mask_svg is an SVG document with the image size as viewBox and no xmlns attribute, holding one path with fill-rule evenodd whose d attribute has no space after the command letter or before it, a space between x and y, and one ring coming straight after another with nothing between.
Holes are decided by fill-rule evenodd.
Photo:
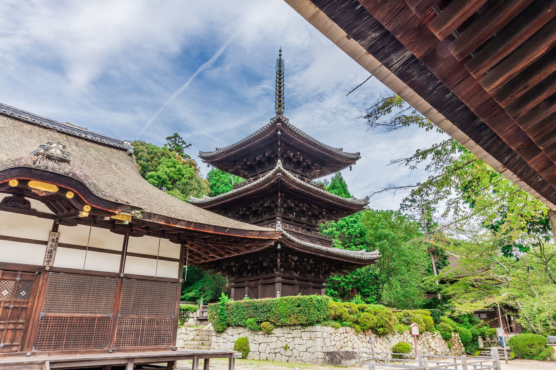
<instances>
[{"instance_id":1,"label":"dark reddish-brown wooden eave overhead in the upper right corner","mask_svg":"<svg viewBox=\"0 0 556 370\"><path fill-rule=\"evenodd\" d=\"M556 209L556 0L285 0L494 169Z\"/></svg>"}]
</instances>

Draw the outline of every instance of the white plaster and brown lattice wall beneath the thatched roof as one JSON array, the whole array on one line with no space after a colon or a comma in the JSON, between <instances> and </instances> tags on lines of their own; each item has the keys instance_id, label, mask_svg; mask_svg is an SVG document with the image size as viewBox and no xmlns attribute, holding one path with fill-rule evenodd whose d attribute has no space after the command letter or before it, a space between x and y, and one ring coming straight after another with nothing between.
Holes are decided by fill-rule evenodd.
<instances>
[{"instance_id":1,"label":"white plaster and brown lattice wall beneath the thatched roof","mask_svg":"<svg viewBox=\"0 0 556 370\"><path fill-rule=\"evenodd\" d=\"M2 355L175 347L183 245L59 225L41 202L31 205L0 206ZM59 242L48 265L52 232Z\"/></svg>"}]
</instances>

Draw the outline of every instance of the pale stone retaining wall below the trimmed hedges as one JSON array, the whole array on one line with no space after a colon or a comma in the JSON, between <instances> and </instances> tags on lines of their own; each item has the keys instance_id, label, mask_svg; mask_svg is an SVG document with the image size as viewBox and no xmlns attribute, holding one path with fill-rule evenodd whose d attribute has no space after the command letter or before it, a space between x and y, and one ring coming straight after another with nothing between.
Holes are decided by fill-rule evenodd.
<instances>
[{"instance_id":1,"label":"pale stone retaining wall below the trimmed hedges","mask_svg":"<svg viewBox=\"0 0 556 370\"><path fill-rule=\"evenodd\" d=\"M229 327L225 332L212 334L211 349L233 349L237 338L247 337L251 350L247 358L320 365L333 352L356 352L358 348L370 351L370 336L370 331L356 333L348 327L335 329L328 326L287 326L277 327L271 333L245 327ZM183 335L183 339L185 337L187 336ZM406 342L411 344L411 351L414 352L413 336L409 331L375 335L375 339L375 351L391 352L394 344ZM448 342L452 343L451 348L448 348ZM442 339L440 333L425 332L419 336L418 346L425 354L461 356L465 353L458 334L454 333L454 337L448 342Z\"/></svg>"}]
</instances>

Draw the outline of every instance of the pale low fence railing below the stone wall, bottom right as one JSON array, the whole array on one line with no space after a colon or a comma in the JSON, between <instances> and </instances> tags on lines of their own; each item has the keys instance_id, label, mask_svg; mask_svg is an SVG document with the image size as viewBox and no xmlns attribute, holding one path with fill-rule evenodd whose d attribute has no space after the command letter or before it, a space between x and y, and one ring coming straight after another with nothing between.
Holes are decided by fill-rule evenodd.
<instances>
[{"instance_id":1,"label":"pale low fence railing below the stone wall, bottom right","mask_svg":"<svg viewBox=\"0 0 556 370\"><path fill-rule=\"evenodd\" d=\"M368 354L370 356L366 356ZM493 348L490 354L489 358L480 358L435 356L423 354L420 349L417 353L376 352L358 349L358 363L368 364L369 370L381 367L410 370L502 370L498 349ZM394 358L394 355L401 358Z\"/></svg>"}]
</instances>

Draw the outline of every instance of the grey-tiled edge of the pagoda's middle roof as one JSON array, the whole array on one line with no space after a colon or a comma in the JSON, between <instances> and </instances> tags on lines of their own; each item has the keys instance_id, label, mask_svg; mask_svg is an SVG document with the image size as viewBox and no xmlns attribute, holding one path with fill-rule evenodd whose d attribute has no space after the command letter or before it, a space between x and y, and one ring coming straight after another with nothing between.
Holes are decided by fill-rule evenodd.
<instances>
[{"instance_id":1,"label":"grey-tiled edge of the pagoda's middle roof","mask_svg":"<svg viewBox=\"0 0 556 370\"><path fill-rule=\"evenodd\" d=\"M241 194L242 192L252 190L252 189L255 189L256 187L259 187L260 185L264 184L266 181L270 180L276 173L280 173L280 174L284 175L284 177L286 179L292 181L293 183L296 183L300 187L304 187L305 189L310 190L311 192L316 192L317 194L320 194L320 195L325 195L329 199L334 199L337 202L345 204L346 206L351 206L351 207L355 206L355 207L363 208L363 207L365 207L366 205L369 204L369 197L368 196L364 197L363 199L344 198L344 197L341 197L339 195L332 194L331 192L326 191L324 189L321 189L318 186L307 183L307 181L299 179L295 174L291 173L290 171L288 171L284 167L282 167L282 162L280 160L278 161L278 163L276 164L274 169L267 172L264 176L261 176L261 178L255 180L255 181L252 181L250 184L247 184L247 185L244 185L244 186L241 186L241 187L237 187L236 189L232 189L229 192L226 192L224 194L220 194L220 195L217 195L217 196L214 196L214 197L212 197L212 196L203 196L202 198L196 198L196 197L190 196L189 201L192 204L209 205L209 204L217 202L217 201L226 200L226 199L235 197L236 195Z\"/></svg>"}]
</instances>

